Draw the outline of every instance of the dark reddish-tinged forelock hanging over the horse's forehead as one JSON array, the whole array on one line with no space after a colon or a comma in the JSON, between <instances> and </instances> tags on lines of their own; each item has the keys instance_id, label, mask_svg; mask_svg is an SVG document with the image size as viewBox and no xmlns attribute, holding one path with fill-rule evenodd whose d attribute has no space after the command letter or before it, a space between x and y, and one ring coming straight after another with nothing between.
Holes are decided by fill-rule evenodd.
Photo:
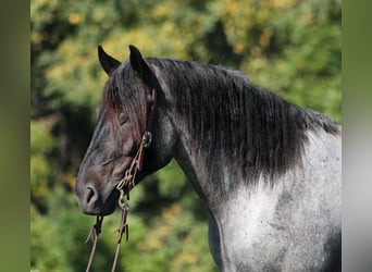
<instances>
[{"instance_id":1,"label":"dark reddish-tinged forelock hanging over the horse's forehead","mask_svg":"<svg viewBox=\"0 0 372 272\"><path fill-rule=\"evenodd\" d=\"M138 140L146 129L146 90L145 85L135 76L127 62L117 67L107 81L101 108L106 112L111 131L115 137L120 133L120 113L133 124L133 134Z\"/></svg>"}]
</instances>

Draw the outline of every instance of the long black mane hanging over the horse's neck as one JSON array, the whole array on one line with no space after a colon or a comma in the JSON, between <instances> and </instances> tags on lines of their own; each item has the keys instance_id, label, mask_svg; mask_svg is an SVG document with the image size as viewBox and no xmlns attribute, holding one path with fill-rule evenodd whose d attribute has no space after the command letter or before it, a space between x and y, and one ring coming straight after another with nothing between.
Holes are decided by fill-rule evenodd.
<instances>
[{"instance_id":1,"label":"long black mane hanging over the horse's neck","mask_svg":"<svg viewBox=\"0 0 372 272\"><path fill-rule=\"evenodd\" d=\"M260 174L274 178L300 163L307 131L339 134L331 119L253 86L239 72L186 61L147 61L165 77L178 120L197 139L196 150L207 148L210 160L222 153L226 163L241 168L247 181Z\"/></svg>"}]
</instances>

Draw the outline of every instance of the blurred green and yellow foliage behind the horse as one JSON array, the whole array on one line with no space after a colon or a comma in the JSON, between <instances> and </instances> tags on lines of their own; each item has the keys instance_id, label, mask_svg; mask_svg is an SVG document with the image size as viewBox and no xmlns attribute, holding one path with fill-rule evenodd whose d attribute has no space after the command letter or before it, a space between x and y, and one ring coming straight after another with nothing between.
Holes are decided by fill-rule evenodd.
<instances>
[{"instance_id":1,"label":"blurred green and yellow foliage behind the horse","mask_svg":"<svg viewBox=\"0 0 372 272\"><path fill-rule=\"evenodd\" d=\"M340 0L33 0L30 2L30 268L84 271L94 217L74 198L77 170L107 79L102 45L117 60L221 64L342 122ZM131 194L129 242L119 271L216 271L206 211L176 162ZM113 261L120 214L104 218L92 271Z\"/></svg>"}]
</instances>

